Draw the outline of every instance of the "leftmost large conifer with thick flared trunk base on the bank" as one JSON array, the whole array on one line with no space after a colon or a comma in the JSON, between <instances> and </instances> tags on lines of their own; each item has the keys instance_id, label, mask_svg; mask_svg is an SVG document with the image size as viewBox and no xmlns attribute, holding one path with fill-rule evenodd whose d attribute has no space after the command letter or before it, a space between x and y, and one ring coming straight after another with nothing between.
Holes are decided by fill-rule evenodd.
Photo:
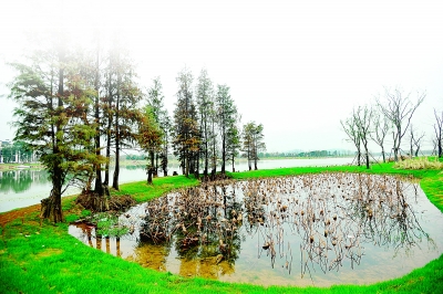
<instances>
[{"instance_id":1,"label":"leftmost large conifer with thick flared trunk base on the bank","mask_svg":"<svg viewBox=\"0 0 443 294\"><path fill-rule=\"evenodd\" d=\"M79 74L64 41L35 54L30 65L12 64L18 75L10 94L19 104L16 139L38 153L50 175L52 189L42 200L41 217L53 222L63 221L61 196L65 188L90 178L96 160L89 153L95 128L85 120L93 90Z\"/></svg>"}]
</instances>

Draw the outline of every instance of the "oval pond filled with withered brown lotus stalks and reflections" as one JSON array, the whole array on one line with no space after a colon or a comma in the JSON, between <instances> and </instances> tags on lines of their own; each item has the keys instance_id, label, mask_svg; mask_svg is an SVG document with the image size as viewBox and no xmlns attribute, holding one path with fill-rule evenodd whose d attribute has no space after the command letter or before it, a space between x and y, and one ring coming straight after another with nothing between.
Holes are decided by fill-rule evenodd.
<instances>
[{"instance_id":1,"label":"oval pond filled with withered brown lotus stalks and reflections","mask_svg":"<svg viewBox=\"0 0 443 294\"><path fill-rule=\"evenodd\" d=\"M120 217L132 233L69 232L90 246L183 276L261 285L368 284L443 252L442 213L416 182L321 174L219 181Z\"/></svg>"}]
</instances>

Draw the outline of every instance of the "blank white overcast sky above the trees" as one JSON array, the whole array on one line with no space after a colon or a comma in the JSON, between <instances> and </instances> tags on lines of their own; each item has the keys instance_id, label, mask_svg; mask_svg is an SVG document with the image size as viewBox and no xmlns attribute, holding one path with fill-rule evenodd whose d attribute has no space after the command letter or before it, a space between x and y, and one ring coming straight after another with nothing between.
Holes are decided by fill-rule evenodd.
<instances>
[{"instance_id":1,"label":"blank white overcast sky above the trees","mask_svg":"<svg viewBox=\"0 0 443 294\"><path fill-rule=\"evenodd\" d=\"M63 28L82 41L99 28L122 35L142 86L161 76L169 114L177 73L187 66L197 78L206 67L230 86L241 123L264 125L268 151L352 149L340 119L383 86L426 92L413 124L432 148L433 108L443 109L441 1L214 2L3 0L0 84L12 77L4 62L22 52L23 32ZM14 104L0 103L0 139L12 139Z\"/></svg>"}]
</instances>

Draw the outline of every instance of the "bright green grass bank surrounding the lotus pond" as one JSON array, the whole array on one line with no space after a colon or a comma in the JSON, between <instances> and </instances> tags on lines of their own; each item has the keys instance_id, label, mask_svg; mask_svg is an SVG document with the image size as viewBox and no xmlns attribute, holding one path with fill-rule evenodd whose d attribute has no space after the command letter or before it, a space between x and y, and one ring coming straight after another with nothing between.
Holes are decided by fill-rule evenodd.
<instances>
[{"instance_id":1,"label":"bright green grass bank surrounding the lotus pond","mask_svg":"<svg viewBox=\"0 0 443 294\"><path fill-rule=\"evenodd\" d=\"M368 172L356 167L282 168L229 174L234 179L281 177L323 171ZM443 175L440 170L398 170L392 164L377 165L369 172L399 174L421 179L430 200L443 211ZM114 195L131 195L143 202L164 192L198 185L193 178L167 177L121 186ZM63 199L66 219L79 218L81 208L74 198ZM68 234L68 224L40 225L38 213L9 222L1 228L1 293L354 293L415 292L443 293L443 255L410 274L368 286L337 285L318 287L261 287L229 284L204 279L184 279L144 269L136 263L84 245Z\"/></svg>"}]
</instances>

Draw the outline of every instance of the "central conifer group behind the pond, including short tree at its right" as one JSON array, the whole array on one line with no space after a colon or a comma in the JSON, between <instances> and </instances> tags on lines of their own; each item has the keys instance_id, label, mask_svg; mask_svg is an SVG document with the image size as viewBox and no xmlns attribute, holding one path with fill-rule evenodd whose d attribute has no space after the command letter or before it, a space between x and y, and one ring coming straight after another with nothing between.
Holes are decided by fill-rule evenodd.
<instances>
[{"instance_id":1,"label":"central conifer group behind the pond, including short tree at its right","mask_svg":"<svg viewBox=\"0 0 443 294\"><path fill-rule=\"evenodd\" d=\"M205 69L195 87L193 74L186 69L178 73L176 81L172 145L183 174L198 177L203 170L204 178L213 178L218 164L220 172L225 174L229 162L235 171L234 161L240 150L249 160L249 170L253 161L257 169L259 151L266 149L264 127L249 122L240 130L240 114L229 87L225 84L214 86Z\"/></svg>"}]
</instances>

